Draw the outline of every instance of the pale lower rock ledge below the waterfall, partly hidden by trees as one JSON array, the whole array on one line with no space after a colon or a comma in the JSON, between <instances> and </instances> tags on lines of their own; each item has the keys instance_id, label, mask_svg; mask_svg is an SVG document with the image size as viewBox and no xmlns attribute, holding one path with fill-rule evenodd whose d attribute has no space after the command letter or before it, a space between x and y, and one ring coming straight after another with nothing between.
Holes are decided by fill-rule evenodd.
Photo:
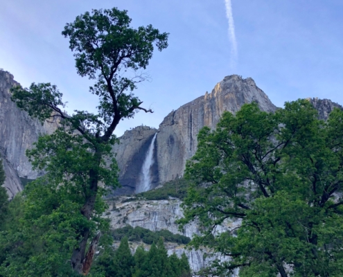
<instances>
[{"instance_id":1,"label":"pale lower rock ledge below the waterfall, partly hidden by trees","mask_svg":"<svg viewBox=\"0 0 343 277\"><path fill-rule=\"evenodd\" d=\"M178 225L175 223L178 218L183 217L179 199L127 202L128 200L130 200L128 197L121 197L116 199L116 202L109 202L110 209L105 217L109 218L113 229L130 225L132 227L141 226L150 231L167 229L172 233L186 235L188 238L200 234L200 227L194 222L186 225L183 230L179 230ZM240 224L239 221L228 221L216 231L222 232L234 229L238 224ZM137 248L137 245L135 248ZM216 258L222 261L227 260L225 256L211 255L209 249L186 249L184 245L175 243L166 244L166 248L168 254L175 252L178 256L181 256L182 253L185 253L191 269L195 272L210 265L211 261Z\"/></svg>"}]
</instances>

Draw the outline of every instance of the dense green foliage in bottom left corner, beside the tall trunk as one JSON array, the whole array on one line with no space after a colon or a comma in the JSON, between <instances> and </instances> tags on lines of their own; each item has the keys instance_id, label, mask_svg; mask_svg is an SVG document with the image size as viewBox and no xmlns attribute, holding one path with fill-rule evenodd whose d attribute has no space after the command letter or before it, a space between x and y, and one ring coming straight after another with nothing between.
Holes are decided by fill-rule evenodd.
<instances>
[{"instance_id":1,"label":"dense green foliage in bottom left corner, beside the tall trunk","mask_svg":"<svg viewBox=\"0 0 343 277\"><path fill-rule=\"evenodd\" d=\"M73 276L66 261L78 244L78 229L106 224L96 214L94 222L87 222L64 187L39 181L44 179L28 184L25 198L18 195L10 203L10 219L1 236L4 276Z\"/></svg>"}]
</instances>

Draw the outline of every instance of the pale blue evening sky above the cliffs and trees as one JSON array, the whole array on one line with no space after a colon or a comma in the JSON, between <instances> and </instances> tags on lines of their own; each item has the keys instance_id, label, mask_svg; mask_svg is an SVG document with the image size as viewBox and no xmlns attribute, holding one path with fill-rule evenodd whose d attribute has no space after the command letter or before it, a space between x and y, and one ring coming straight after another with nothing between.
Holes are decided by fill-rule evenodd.
<instances>
[{"instance_id":1,"label":"pale blue evening sky above the cliffs and trees","mask_svg":"<svg viewBox=\"0 0 343 277\"><path fill-rule=\"evenodd\" d=\"M67 111L95 111L91 84L76 74L61 32L92 8L128 10L133 26L170 33L166 50L148 66L151 82L135 91L143 107L116 134L137 125L158 127L177 109L233 73L252 77L275 105L297 98L329 98L343 105L342 0L231 0L237 43L233 59L224 0L11 0L0 10L0 68L25 87L57 84Z\"/></svg>"}]
</instances>

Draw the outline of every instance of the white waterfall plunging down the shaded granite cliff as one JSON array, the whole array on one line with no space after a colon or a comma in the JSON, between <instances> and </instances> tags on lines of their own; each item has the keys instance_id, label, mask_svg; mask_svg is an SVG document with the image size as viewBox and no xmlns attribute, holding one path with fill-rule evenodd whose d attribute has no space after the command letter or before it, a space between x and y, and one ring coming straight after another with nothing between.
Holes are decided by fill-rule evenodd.
<instances>
[{"instance_id":1,"label":"white waterfall plunging down the shaded granite cliff","mask_svg":"<svg viewBox=\"0 0 343 277\"><path fill-rule=\"evenodd\" d=\"M152 138L148 152L146 153L146 159L143 162L141 176L139 184L136 188L136 193L143 193L144 191L150 190L151 185L151 176L150 168L154 164L154 147L157 133Z\"/></svg>"}]
</instances>

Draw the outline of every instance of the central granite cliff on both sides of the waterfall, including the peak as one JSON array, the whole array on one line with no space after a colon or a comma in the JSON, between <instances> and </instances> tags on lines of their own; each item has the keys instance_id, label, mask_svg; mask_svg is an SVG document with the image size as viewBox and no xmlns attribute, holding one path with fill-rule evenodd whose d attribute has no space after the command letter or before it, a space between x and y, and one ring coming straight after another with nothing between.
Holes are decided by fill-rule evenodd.
<instances>
[{"instance_id":1,"label":"central granite cliff on both sides of the waterfall, including the peak","mask_svg":"<svg viewBox=\"0 0 343 277\"><path fill-rule=\"evenodd\" d=\"M230 75L216 84L211 93L188 102L171 111L159 125L159 129L137 127L125 132L120 144L114 148L118 153L123 186L117 193L133 193L139 184L139 170L148 148L148 142L157 132L155 163L151 169L152 187L179 178L184 173L186 160L197 149L197 134L204 126L216 127L224 111L235 113L245 103L256 101L263 111L275 111L276 107L259 89L252 78L243 79Z\"/></svg>"}]
</instances>

